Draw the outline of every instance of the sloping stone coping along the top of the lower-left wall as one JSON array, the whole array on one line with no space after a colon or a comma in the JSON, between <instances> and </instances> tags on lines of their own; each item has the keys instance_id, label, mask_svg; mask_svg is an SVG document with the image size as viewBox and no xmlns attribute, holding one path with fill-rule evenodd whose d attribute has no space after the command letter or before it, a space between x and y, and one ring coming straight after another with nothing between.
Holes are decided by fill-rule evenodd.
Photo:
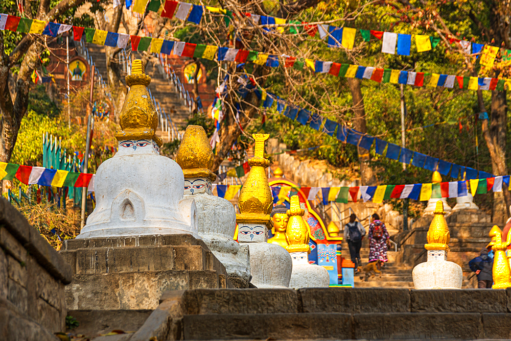
<instances>
[{"instance_id":1,"label":"sloping stone coping along the top of the lower-left wall","mask_svg":"<svg viewBox=\"0 0 511 341\"><path fill-rule=\"evenodd\" d=\"M59 279L63 284L71 283L73 278L71 266L5 198L0 198L0 224L53 277Z\"/></svg>"}]
</instances>

